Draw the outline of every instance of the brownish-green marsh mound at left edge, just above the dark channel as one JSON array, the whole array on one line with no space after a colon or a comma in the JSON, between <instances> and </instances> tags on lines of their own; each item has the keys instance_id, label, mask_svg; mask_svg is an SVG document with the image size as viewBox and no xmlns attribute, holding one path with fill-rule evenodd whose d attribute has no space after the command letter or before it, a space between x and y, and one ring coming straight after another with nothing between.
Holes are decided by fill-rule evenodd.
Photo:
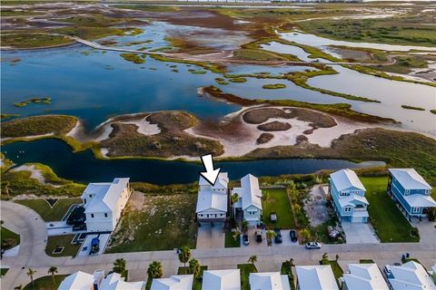
<instances>
[{"instance_id":1,"label":"brownish-green marsh mound at left edge, just above the dark channel","mask_svg":"<svg viewBox=\"0 0 436 290\"><path fill-rule=\"evenodd\" d=\"M63 135L71 131L77 118L65 115L45 115L2 122L2 138L20 138L26 136L54 133Z\"/></svg>"}]
</instances>

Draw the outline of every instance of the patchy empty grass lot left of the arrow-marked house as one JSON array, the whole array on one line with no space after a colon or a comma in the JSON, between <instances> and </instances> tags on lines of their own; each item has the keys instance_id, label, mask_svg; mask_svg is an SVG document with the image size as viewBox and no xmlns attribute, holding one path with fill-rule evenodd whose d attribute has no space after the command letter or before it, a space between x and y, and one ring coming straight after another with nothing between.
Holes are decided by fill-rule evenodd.
<instances>
[{"instance_id":1,"label":"patchy empty grass lot left of the arrow-marked house","mask_svg":"<svg viewBox=\"0 0 436 290\"><path fill-rule=\"evenodd\" d=\"M195 247L196 196L134 194L106 252L135 252Z\"/></svg>"}]
</instances>

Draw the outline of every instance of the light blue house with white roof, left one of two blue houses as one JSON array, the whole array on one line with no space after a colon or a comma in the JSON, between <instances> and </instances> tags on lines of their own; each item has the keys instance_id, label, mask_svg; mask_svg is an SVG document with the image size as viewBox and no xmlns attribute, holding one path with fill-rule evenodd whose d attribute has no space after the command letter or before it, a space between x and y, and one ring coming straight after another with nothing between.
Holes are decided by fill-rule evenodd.
<instances>
[{"instance_id":1,"label":"light blue house with white roof, left one of two blue houses","mask_svg":"<svg viewBox=\"0 0 436 290\"><path fill-rule=\"evenodd\" d=\"M368 222L366 189L351 169L342 169L330 175L329 194L341 222Z\"/></svg>"}]
</instances>

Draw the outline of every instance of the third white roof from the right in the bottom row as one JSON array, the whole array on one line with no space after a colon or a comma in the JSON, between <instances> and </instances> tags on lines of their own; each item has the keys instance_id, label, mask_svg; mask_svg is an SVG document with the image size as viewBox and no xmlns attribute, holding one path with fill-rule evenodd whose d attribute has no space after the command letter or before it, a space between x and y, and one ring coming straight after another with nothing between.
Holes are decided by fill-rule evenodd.
<instances>
[{"instance_id":1,"label":"third white roof from the right in the bottom row","mask_svg":"<svg viewBox=\"0 0 436 290\"><path fill-rule=\"evenodd\" d=\"M332 266L296 266L301 290L339 290Z\"/></svg>"}]
</instances>

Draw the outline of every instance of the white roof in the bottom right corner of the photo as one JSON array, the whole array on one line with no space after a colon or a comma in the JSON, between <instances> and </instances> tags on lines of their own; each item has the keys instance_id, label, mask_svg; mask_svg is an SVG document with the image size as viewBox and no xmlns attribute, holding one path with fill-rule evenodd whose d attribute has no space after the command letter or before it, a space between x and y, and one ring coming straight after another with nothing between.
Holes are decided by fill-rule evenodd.
<instances>
[{"instance_id":1,"label":"white roof in the bottom right corner of the photo","mask_svg":"<svg viewBox=\"0 0 436 290\"><path fill-rule=\"evenodd\" d=\"M389 266L389 269L393 276L393 278L389 278L389 282L394 290L436 290L431 276L419 263L410 261L401 266Z\"/></svg>"}]
</instances>

